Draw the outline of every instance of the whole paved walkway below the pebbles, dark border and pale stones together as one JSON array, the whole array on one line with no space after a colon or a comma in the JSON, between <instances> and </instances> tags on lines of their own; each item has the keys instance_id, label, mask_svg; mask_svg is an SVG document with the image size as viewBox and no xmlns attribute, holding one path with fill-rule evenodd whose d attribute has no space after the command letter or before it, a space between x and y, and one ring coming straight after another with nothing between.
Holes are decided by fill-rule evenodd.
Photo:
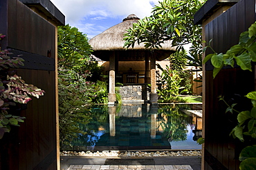
<instances>
[{"instance_id":1,"label":"whole paved walkway below the pebbles, dark border and pale stones together","mask_svg":"<svg viewBox=\"0 0 256 170\"><path fill-rule=\"evenodd\" d=\"M152 157L152 158L83 158L80 156L61 156L61 170L85 169L170 169L170 170L201 170L201 157Z\"/></svg>"}]
</instances>

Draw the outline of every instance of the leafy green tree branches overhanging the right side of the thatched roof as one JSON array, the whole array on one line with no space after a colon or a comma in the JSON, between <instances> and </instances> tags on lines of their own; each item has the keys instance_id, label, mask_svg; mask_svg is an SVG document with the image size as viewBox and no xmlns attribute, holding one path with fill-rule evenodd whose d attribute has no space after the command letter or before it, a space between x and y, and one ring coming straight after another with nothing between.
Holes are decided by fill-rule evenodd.
<instances>
[{"instance_id":1,"label":"leafy green tree branches overhanging the right side of the thatched roof","mask_svg":"<svg viewBox=\"0 0 256 170\"><path fill-rule=\"evenodd\" d=\"M194 14L203 5L199 0L164 0L155 6L150 17L140 19L125 34L125 47L144 43L145 47L159 48L173 40L173 45L200 41L201 27L194 25ZM192 36L194 35L194 36Z\"/></svg>"}]
</instances>

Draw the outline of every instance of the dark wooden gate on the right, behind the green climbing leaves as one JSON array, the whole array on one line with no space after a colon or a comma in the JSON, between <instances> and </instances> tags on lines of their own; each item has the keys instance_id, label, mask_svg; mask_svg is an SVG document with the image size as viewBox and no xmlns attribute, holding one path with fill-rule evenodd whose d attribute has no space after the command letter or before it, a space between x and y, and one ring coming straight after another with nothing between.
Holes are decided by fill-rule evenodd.
<instances>
[{"instance_id":1,"label":"dark wooden gate on the right, behind the green climbing leaves","mask_svg":"<svg viewBox=\"0 0 256 170\"><path fill-rule=\"evenodd\" d=\"M203 24L203 40L209 42L212 39L211 46L218 53L226 53L236 45L241 32L255 22L255 0L237 1L209 0L195 15L196 23ZM205 56L211 53L207 50ZM240 111L251 108L250 100L244 96L255 90L254 68L249 72L239 67L226 67L214 79L212 70L210 62L203 65L205 144L202 169L239 169L238 158L244 144L230 136L237 125L237 114L225 114L227 106L218 96L225 96L230 103L239 103L236 107Z\"/></svg>"}]
</instances>

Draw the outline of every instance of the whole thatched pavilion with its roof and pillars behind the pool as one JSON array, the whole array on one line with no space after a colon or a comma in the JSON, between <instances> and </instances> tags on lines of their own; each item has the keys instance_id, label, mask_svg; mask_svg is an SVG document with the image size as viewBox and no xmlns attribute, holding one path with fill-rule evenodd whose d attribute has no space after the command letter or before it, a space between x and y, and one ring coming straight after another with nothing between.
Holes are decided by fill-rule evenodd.
<instances>
[{"instance_id":1,"label":"whole thatched pavilion with its roof and pillars behind the pool","mask_svg":"<svg viewBox=\"0 0 256 170\"><path fill-rule=\"evenodd\" d=\"M89 41L94 50L93 55L102 61L109 61L109 105L113 105L116 102L115 79L119 70L118 61L145 61L144 75L141 77L144 78L143 83L151 84L151 93L149 94L150 103L157 104L156 61L162 61L175 52L175 47L172 47L170 41L165 41L161 49L154 49L152 51L145 49L143 44L136 44L133 48L129 47L126 50L123 47L125 44L123 40L124 34L127 32L126 30L131 28L133 23L137 23L138 20L139 18L136 17L135 14L130 14L127 18L123 19L122 23L114 25L101 34L94 36ZM127 72L132 70L136 70L136 68L130 68ZM123 74L121 76L123 76ZM128 74L126 77L127 83L138 83L138 81L129 82ZM131 78L133 77L134 80L135 78L138 80L138 74L132 74Z\"/></svg>"}]
</instances>

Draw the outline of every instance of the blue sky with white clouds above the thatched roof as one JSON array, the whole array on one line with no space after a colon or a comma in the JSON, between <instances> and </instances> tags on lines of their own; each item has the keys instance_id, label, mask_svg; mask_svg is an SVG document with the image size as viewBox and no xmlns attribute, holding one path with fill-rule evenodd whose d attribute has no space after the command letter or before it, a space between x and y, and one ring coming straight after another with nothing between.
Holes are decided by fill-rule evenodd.
<instances>
[{"instance_id":1,"label":"blue sky with white clouds above the thatched roof","mask_svg":"<svg viewBox=\"0 0 256 170\"><path fill-rule=\"evenodd\" d=\"M66 24L93 38L122 22L129 14L149 17L159 0L51 0L66 17Z\"/></svg>"}]
</instances>

